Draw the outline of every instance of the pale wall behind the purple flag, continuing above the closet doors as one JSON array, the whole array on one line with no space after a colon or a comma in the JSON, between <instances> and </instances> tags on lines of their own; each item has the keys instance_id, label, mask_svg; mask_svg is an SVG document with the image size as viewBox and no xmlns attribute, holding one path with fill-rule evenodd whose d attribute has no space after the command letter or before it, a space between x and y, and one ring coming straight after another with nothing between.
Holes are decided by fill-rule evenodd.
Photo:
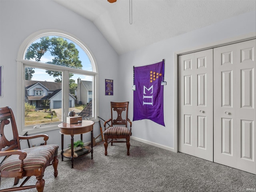
<instances>
[{"instance_id":1,"label":"pale wall behind the purple flag, continuing above the closet doors","mask_svg":"<svg viewBox=\"0 0 256 192\"><path fill-rule=\"evenodd\" d=\"M172 30L172 29L170 29ZM129 118L133 118L133 66L165 59L164 122L165 127L150 120L132 122L132 136L144 142L174 149L174 53L256 31L256 12L242 14L193 32L146 46L119 56L120 98L130 101ZM122 78L121 78L122 77Z\"/></svg>"}]
</instances>

